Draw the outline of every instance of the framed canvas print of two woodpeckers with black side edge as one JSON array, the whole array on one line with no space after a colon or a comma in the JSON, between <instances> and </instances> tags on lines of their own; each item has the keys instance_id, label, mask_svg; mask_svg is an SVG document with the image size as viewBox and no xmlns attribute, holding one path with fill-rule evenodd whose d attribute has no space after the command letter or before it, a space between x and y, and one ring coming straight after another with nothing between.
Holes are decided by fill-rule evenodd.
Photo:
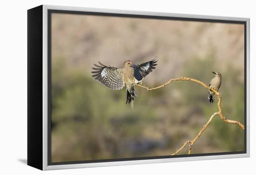
<instances>
[{"instance_id":1,"label":"framed canvas print of two woodpeckers with black side edge","mask_svg":"<svg viewBox=\"0 0 256 175\"><path fill-rule=\"evenodd\" d=\"M28 165L249 156L249 19L27 12Z\"/></svg>"}]
</instances>

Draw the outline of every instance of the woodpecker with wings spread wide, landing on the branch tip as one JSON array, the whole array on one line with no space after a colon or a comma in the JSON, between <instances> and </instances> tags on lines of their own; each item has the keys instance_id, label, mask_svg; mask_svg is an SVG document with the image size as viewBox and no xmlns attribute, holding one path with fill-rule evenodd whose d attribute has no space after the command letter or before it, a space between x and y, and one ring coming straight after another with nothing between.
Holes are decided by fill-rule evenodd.
<instances>
[{"instance_id":1,"label":"woodpecker with wings spread wide, landing on the branch tip","mask_svg":"<svg viewBox=\"0 0 256 175\"><path fill-rule=\"evenodd\" d=\"M93 77L95 80L101 82L110 89L120 90L126 85L126 104L130 103L138 97L134 86L145 78L156 66L157 60L153 59L146 63L133 64L132 61L127 60L123 63L123 68L115 68L111 66L105 66L94 64L96 68L92 68Z\"/></svg>"}]
</instances>

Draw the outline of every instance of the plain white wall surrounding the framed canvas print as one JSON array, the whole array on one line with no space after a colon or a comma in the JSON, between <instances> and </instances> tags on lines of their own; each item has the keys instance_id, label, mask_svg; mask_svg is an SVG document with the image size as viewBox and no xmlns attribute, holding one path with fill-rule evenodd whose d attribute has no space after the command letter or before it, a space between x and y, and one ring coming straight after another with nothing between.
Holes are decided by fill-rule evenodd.
<instances>
[{"instance_id":1,"label":"plain white wall surrounding the framed canvas print","mask_svg":"<svg viewBox=\"0 0 256 175\"><path fill-rule=\"evenodd\" d=\"M42 174L40 170L25 165L27 159L27 9L41 4L84 6L138 11L172 12L216 16L246 17L251 19L251 85L255 88L256 12L253 0L27 0L1 1L0 10L0 174ZM175 162L132 166L104 167L47 171L44 174L242 174L255 172L256 151L251 92L251 157L195 162ZM253 163L254 162L254 163ZM253 166L254 165L254 166ZM250 173L251 174L251 173Z\"/></svg>"}]
</instances>

